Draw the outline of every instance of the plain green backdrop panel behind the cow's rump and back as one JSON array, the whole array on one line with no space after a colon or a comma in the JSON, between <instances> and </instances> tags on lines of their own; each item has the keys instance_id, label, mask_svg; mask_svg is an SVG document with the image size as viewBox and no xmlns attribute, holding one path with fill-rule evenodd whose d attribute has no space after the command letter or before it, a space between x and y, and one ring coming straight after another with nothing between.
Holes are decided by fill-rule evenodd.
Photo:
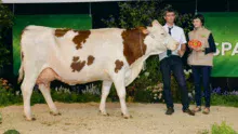
<instances>
[{"instance_id":1,"label":"plain green backdrop panel behind the cow's rump and back","mask_svg":"<svg viewBox=\"0 0 238 134\"><path fill-rule=\"evenodd\" d=\"M40 25L56 28L91 29L92 18L88 14L74 15L16 15L13 26L13 72L18 75L21 65L19 38L28 25Z\"/></svg>"}]
</instances>

